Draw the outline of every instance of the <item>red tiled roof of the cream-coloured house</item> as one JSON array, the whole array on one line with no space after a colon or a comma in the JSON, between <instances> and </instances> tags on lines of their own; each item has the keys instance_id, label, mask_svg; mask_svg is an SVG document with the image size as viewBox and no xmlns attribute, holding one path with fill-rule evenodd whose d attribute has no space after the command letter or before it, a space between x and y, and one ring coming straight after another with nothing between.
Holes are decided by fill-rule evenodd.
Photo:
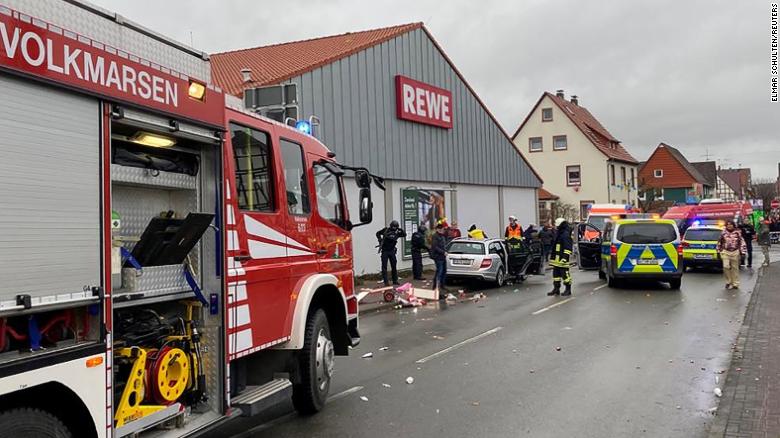
<instances>
[{"instance_id":1,"label":"red tiled roof of the cream-coloured house","mask_svg":"<svg viewBox=\"0 0 780 438\"><path fill-rule=\"evenodd\" d=\"M512 138L517 137L517 134L520 133L520 130L528 121L528 117L531 117L531 114L536 110L536 107L542 103L542 100L545 98L545 96L549 97L553 102L555 102L561 111L566 114L566 116L568 116L575 125L577 125L583 134L585 134L585 137L587 137L591 143L593 143L593 145L596 146L596 148L604 155L613 160L639 164L639 161L631 156L631 154L628 153L623 145L620 144L620 140L616 139L612 134L610 134L610 132L607 131L607 128L599 123L599 121L593 117L593 114L591 114L587 108L584 106L575 105L566 99L560 98L555 94L548 92L542 94L542 97L539 98L539 101L536 103L536 105L534 105L534 108L531 110L531 112L528 113L526 119L517 128L517 131L515 131L515 135L513 135Z\"/></svg>"}]
</instances>

